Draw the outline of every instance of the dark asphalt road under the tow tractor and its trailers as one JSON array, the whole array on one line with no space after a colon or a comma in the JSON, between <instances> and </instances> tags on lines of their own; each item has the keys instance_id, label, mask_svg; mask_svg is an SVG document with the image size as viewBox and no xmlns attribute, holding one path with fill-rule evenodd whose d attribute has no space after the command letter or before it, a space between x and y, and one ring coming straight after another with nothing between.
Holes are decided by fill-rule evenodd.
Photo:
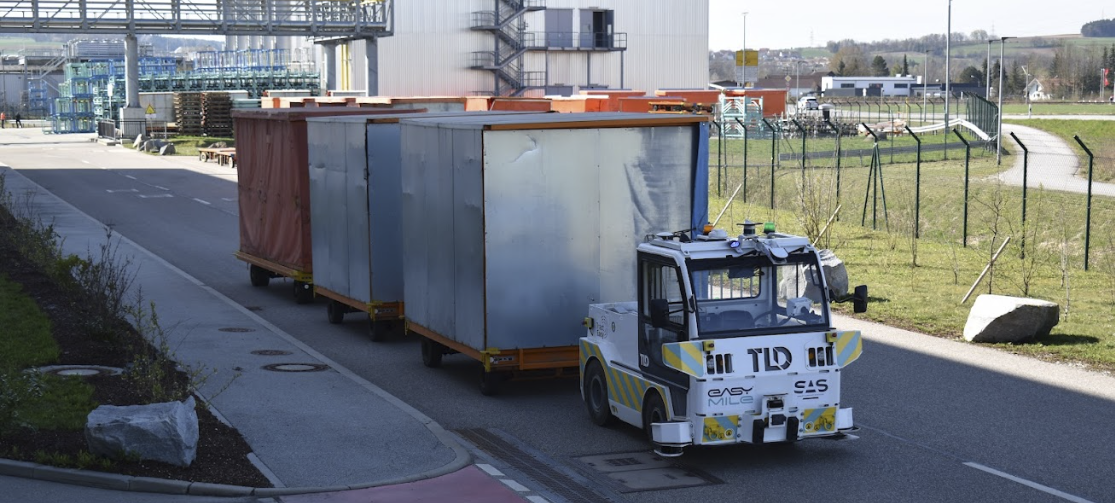
<instances>
[{"instance_id":1,"label":"dark asphalt road under the tow tractor and its trailers","mask_svg":"<svg viewBox=\"0 0 1115 503\"><path fill-rule=\"evenodd\" d=\"M0 137L0 163L446 428L512 439L531 456L524 471L536 464L589 475L578 457L647 451L633 427L592 425L574 380L508 383L500 396L484 397L478 365L465 357L428 369L414 338L374 344L355 313L329 325L324 302L295 304L289 281L252 288L245 264L232 255L234 171L107 147L84 135L38 138L25 130ZM43 139L59 143L31 144ZM688 449L680 463L719 484L626 494L586 485L619 501L670 503L1115 501L1115 379L881 326L838 325L862 327L866 339L863 357L846 370L842 404L855 408L859 438ZM563 500L542 481L523 480Z\"/></svg>"}]
</instances>

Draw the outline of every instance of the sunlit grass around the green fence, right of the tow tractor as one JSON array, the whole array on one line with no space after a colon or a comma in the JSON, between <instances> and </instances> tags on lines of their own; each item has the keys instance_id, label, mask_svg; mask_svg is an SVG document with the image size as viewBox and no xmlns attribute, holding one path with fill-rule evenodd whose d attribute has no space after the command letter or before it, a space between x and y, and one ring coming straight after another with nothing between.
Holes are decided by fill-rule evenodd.
<instances>
[{"instance_id":1,"label":"sunlit grass around the green fence, right of the tow tractor","mask_svg":"<svg viewBox=\"0 0 1115 503\"><path fill-rule=\"evenodd\" d=\"M884 158L872 177L872 170L865 167L870 162L842 162L838 201L833 159L809 161L804 173L794 167L799 164L784 162L774 170L776 209L770 210L770 147L765 148L765 161L764 151L752 148L757 146L748 145L747 190L738 191L727 205L729 195L743 185L744 170L739 167L741 145L726 145L735 165L720 171L721 186L716 186L717 170L712 168L710 219L725 209L718 226L729 232L750 219L774 221L779 230L809 235L820 231L840 204L840 220L820 245L833 249L845 261L852 284L870 287L867 318L957 338L978 293L1045 299L1060 306L1060 323L1048 337L1009 350L1115 370L1115 201L1094 201L1090 267L1084 271L1084 195L1030 187L1024 228L1021 188L997 182L1000 168L989 152L973 153L967 166L967 188L963 158L923 162L920 194L915 164ZM757 161L752 161L756 154ZM715 166L715 144L710 158ZM1002 166L1012 161L1007 156ZM917 240L915 221L920 222ZM1011 241L992 273L972 299L961 303L1007 236Z\"/></svg>"}]
</instances>

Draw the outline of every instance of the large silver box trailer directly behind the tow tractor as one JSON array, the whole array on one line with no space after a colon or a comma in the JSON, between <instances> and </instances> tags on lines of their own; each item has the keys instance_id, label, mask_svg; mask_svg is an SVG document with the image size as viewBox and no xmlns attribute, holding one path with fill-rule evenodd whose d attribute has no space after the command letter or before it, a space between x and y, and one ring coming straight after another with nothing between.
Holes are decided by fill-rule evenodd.
<instances>
[{"instance_id":1,"label":"large silver box trailer directly behind the tow tractor","mask_svg":"<svg viewBox=\"0 0 1115 503\"><path fill-rule=\"evenodd\" d=\"M547 114L404 119L407 331L423 361L481 385L578 367L589 304L634 300L636 246L705 225L707 117Z\"/></svg>"}]
</instances>

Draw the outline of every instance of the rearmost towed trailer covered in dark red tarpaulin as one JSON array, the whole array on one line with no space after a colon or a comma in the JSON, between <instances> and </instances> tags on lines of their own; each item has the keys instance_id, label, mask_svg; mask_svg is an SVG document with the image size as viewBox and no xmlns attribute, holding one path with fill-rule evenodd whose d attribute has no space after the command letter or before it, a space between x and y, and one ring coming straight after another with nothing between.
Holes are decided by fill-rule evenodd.
<instances>
[{"instance_id":1,"label":"rearmost towed trailer covered in dark red tarpaulin","mask_svg":"<svg viewBox=\"0 0 1115 503\"><path fill-rule=\"evenodd\" d=\"M232 112L240 203L240 250L235 255L249 263L253 286L265 287L271 278L291 278L294 299L299 303L313 300L306 119L378 112L343 107Z\"/></svg>"}]
</instances>

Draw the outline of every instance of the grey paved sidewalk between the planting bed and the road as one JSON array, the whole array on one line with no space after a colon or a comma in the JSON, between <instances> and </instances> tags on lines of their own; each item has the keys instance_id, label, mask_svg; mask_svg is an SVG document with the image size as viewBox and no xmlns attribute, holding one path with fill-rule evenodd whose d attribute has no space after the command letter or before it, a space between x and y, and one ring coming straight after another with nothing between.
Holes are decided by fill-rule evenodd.
<instances>
[{"instance_id":1,"label":"grey paved sidewalk between the planting bed and the road","mask_svg":"<svg viewBox=\"0 0 1115 503\"><path fill-rule=\"evenodd\" d=\"M33 194L31 210L54 222L65 238L66 253L84 257L105 241L105 228L90 216L7 166L0 165L0 173L17 197ZM471 454L455 437L414 407L132 241L114 239L119 240L120 257L132 258L136 284L157 306L161 325L174 327L168 342L178 362L215 370L201 395L215 397L214 413L240 431L252 446L253 462L275 489L139 480L0 461L0 502L205 501L186 494L256 501L338 491L350 493L282 501L369 501L374 494L390 501L446 501L446 494L453 501L523 501L471 466ZM253 354L260 350L285 355ZM263 368L271 364L294 364L303 371ZM304 371L310 367L322 370ZM465 486L469 491L463 492ZM122 492L127 490L147 492Z\"/></svg>"}]
</instances>

